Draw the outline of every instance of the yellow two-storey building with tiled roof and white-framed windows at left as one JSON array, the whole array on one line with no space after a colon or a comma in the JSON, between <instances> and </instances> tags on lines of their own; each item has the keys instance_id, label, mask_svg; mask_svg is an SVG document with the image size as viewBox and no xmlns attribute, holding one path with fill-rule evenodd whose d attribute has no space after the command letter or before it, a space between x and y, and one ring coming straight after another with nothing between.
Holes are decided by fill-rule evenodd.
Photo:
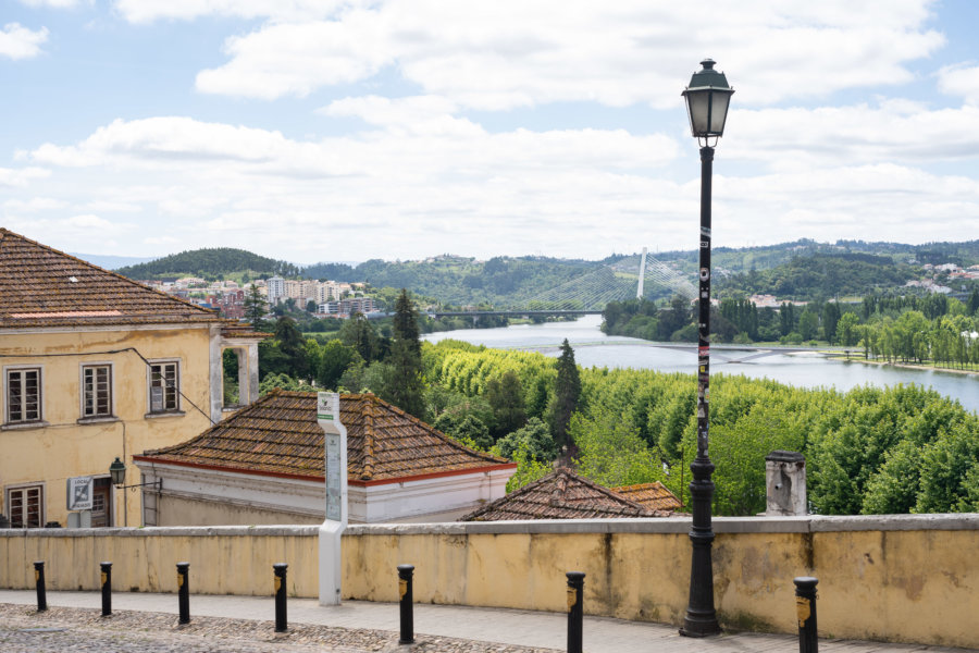
<instances>
[{"instance_id":1,"label":"yellow two-storey building with tiled roof and white-framed windows at left","mask_svg":"<svg viewBox=\"0 0 979 653\"><path fill-rule=\"evenodd\" d=\"M138 484L133 454L219 422L224 349L238 356L239 405L256 398L261 337L0 229L0 515L65 526L69 479L91 477L76 497L91 525L139 526L142 494L113 489L110 464Z\"/></svg>"}]
</instances>

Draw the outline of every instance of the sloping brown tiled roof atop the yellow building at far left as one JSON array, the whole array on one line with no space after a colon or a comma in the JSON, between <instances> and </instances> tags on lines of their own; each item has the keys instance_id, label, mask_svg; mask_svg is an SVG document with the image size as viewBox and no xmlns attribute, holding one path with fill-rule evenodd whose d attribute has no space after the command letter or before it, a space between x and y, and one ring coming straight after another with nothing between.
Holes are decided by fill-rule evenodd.
<instances>
[{"instance_id":1,"label":"sloping brown tiled roof atop the yellow building at far left","mask_svg":"<svg viewBox=\"0 0 979 653\"><path fill-rule=\"evenodd\" d=\"M225 320L0 227L0 329L185 322Z\"/></svg>"}]
</instances>

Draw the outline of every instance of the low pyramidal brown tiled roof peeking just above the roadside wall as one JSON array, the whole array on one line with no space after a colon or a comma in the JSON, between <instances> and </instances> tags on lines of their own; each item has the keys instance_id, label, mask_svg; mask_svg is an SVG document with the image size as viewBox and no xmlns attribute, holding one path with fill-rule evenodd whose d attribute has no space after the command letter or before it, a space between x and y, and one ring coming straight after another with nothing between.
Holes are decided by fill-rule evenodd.
<instances>
[{"instance_id":1,"label":"low pyramidal brown tiled roof peeking just above the roadside wall","mask_svg":"<svg viewBox=\"0 0 979 653\"><path fill-rule=\"evenodd\" d=\"M667 512L645 508L608 488L578 476L570 469L560 468L473 510L459 521L667 516L669 516Z\"/></svg>"}]
</instances>

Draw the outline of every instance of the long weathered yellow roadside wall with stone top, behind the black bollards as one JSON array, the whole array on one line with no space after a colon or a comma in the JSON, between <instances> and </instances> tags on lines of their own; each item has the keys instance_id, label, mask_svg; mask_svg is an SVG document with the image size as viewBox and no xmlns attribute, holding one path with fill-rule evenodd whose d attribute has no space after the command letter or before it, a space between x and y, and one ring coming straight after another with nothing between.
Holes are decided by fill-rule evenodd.
<instances>
[{"instance_id":1,"label":"long weathered yellow roadside wall with stone top, behind the black bollards","mask_svg":"<svg viewBox=\"0 0 979 653\"><path fill-rule=\"evenodd\" d=\"M819 578L822 637L979 646L979 515L717 518L715 601L722 626L795 632L795 576ZM690 582L690 520L617 519L352 526L344 597L396 601L395 568L416 566L419 602L563 611L565 572L584 571L587 614L679 624ZM317 527L0 531L0 587L315 596Z\"/></svg>"}]
</instances>

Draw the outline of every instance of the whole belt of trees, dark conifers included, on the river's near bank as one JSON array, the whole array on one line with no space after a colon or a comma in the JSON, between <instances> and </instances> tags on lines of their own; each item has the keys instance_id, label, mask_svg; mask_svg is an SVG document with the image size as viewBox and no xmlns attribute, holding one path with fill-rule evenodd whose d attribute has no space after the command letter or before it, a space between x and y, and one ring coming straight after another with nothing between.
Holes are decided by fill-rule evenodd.
<instances>
[{"instance_id":1,"label":"whole belt of trees, dark conifers included, on the river's near bank","mask_svg":"<svg viewBox=\"0 0 979 653\"><path fill-rule=\"evenodd\" d=\"M692 374L582 369L567 341L560 358L420 343L407 293L396 309L389 335L360 317L325 344L303 340L282 318L260 345L262 391L374 392L470 446L518 461L510 489L561 459L607 486L661 481L689 500ZM933 391L839 393L717 374L710 397L716 514L765 509L765 456L773 449L806 456L815 513L979 510L979 416Z\"/></svg>"}]
</instances>

